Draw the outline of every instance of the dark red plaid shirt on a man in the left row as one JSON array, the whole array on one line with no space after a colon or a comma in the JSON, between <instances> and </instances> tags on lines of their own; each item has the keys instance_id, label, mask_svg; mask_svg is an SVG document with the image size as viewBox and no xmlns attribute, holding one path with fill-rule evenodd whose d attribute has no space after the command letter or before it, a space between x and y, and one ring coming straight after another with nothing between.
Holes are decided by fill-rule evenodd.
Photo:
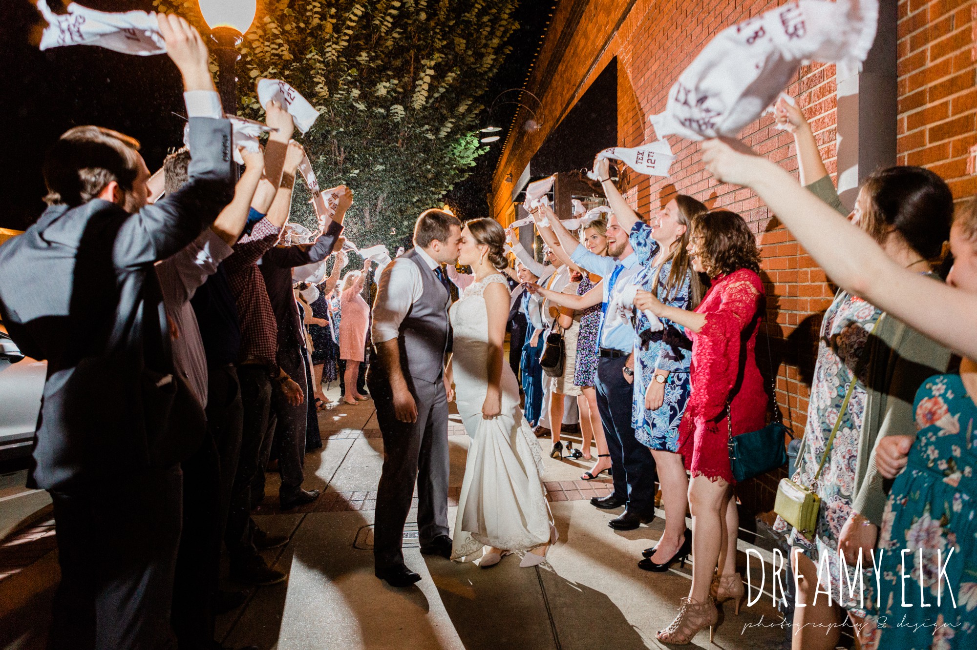
<instances>
[{"instance_id":1,"label":"dark red plaid shirt on a man in the left row","mask_svg":"<svg viewBox=\"0 0 977 650\"><path fill-rule=\"evenodd\" d=\"M255 223L250 234L237 240L234 255L224 263L240 319L239 361L256 358L270 368L277 367L278 327L265 279L257 263L266 251L275 246L280 233L280 227L262 219Z\"/></svg>"}]
</instances>

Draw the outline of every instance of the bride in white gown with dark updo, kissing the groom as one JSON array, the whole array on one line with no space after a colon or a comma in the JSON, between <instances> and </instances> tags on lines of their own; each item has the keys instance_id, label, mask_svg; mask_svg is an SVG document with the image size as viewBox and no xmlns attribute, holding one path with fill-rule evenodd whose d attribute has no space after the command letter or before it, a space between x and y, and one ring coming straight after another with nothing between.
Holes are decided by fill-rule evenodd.
<instances>
[{"instance_id":1,"label":"bride in white gown with dark updo, kissing the groom","mask_svg":"<svg viewBox=\"0 0 977 650\"><path fill-rule=\"evenodd\" d=\"M458 263L472 267L475 282L450 311L454 354L447 381L456 385L455 403L472 438L451 559L464 561L484 548L483 568L516 550L529 551L520 566L535 566L556 541L540 479L539 444L519 407L516 377L502 361L510 301L499 273L507 266L504 243L497 222L465 223Z\"/></svg>"}]
</instances>

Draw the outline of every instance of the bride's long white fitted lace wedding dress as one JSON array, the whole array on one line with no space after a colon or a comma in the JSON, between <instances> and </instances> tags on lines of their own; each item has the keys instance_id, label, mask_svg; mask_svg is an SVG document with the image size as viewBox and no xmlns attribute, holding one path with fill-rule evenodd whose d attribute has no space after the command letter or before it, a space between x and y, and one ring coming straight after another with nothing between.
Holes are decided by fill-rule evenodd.
<instances>
[{"instance_id":1,"label":"bride's long white fitted lace wedding dress","mask_svg":"<svg viewBox=\"0 0 977 650\"><path fill-rule=\"evenodd\" d=\"M454 330L455 403L472 441L458 498L451 559L464 560L483 546L529 550L550 539L550 514L540 473L539 443L519 406L519 386L502 362L502 410L482 417L488 392L488 284L508 284L489 275L462 292L451 305ZM470 559L475 559L471 557Z\"/></svg>"}]
</instances>

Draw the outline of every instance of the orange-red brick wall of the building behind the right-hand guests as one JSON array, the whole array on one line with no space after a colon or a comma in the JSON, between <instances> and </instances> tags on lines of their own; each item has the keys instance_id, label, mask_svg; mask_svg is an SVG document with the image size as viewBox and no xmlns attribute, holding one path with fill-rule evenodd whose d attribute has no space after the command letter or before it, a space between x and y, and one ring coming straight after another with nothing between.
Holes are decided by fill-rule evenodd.
<instances>
[{"instance_id":1,"label":"orange-red brick wall of the building behind the right-hand guests","mask_svg":"<svg viewBox=\"0 0 977 650\"><path fill-rule=\"evenodd\" d=\"M538 95L537 90L545 85L540 98L543 127L526 133L519 129L521 118L517 117L496 170L493 205L495 217L503 223L511 221L512 185L504 181L506 175L519 177L563 117L564 107L586 90L608 62L617 58L619 144L646 142L654 137L648 115L663 109L669 88L705 43L722 28L783 3L637 0L610 38L628 4L622 0L564 0L558 6L527 86ZM584 6L573 38L563 39L564 47L558 51L561 29ZM977 89L971 56L977 33L975 16L973 2L899 2L899 163L932 169L950 183L957 198L977 189L971 157L971 148L977 150ZM560 61L559 65L554 67L552 60ZM555 70L548 82L542 79L547 69ZM835 91L834 66L819 63L803 66L787 89L811 122L832 177L836 172ZM743 140L786 169L797 169L793 139L774 128L772 117L761 117L746 127ZM777 401L787 425L799 436L806 422L821 316L830 305L833 287L751 191L716 183L705 174L698 143L674 136L668 141L676 154L670 178L629 178L636 184L637 208L655 210L679 191L710 207L740 213L757 232L764 259L768 331L774 359L781 361ZM759 351L762 367L766 361L762 342ZM766 368L761 369L767 374ZM769 509L775 487L775 477L767 477L746 490L744 501L753 502L760 511Z\"/></svg>"}]
</instances>

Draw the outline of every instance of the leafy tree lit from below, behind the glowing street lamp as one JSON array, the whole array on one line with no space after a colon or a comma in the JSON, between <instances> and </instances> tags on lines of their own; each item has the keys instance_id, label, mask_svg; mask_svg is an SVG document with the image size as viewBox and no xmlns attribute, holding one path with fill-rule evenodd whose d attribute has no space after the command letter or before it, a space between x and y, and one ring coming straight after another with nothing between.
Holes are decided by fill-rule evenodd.
<instances>
[{"instance_id":1,"label":"leafy tree lit from below, behind the glowing street lamp","mask_svg":"<svg viewBox=\"0 0 977 650\"><path fill-rule=\"evenodd\" d=\"M259 118L253 83L283 79L321 115L301 139L319 186L346 183L349 237L393 245L439 207L485 153L479 102L510 51L518 0L264 0L244 36L240 107ZM203 28L195 0L154 0ZM293 215L312 222L296 195Z\"/></svg>"}]
</instances>

